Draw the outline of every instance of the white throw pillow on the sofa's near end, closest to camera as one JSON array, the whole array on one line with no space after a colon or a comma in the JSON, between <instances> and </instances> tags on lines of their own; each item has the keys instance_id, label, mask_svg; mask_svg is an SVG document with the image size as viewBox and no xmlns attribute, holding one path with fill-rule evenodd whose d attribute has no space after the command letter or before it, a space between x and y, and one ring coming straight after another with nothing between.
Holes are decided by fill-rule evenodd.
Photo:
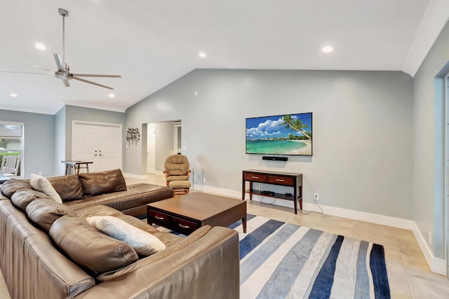
<instances>
[{"instance_id":1,"label":"white throw pillow on the sofa's near end, closest to camera","mask_svg":"<svg viewBox=\"0 0 449 299\"><path fill-rule=\"evenodd\" d=\"M91 216L86 221L109 237L125 242L142 256L166 249L166 245L154 235L114 216Z\"/></svg>"}]
</instances>

